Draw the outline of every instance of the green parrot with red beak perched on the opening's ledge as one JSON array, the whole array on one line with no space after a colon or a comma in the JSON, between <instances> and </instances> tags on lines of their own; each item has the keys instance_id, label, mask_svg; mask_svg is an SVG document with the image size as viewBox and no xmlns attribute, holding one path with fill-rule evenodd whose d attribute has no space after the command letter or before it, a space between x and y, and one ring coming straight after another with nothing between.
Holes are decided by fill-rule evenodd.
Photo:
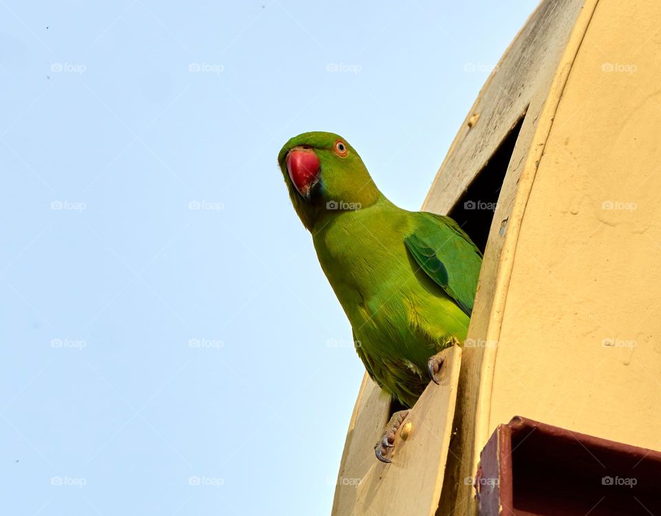
<instances>
[{"instance_id":1,"label":"green parrot with red beak perched on the opening's ledge","mask_svg":"<svg viewBox=\"0 0 661 516\"><path fill-rule=\"evenodd\" d=\"M289 140L277 157L289 196L383 391L412 407L439 371L438 353L465 339L482 254L447 216L388 200L358 153L330 132ZM375 446L386 458L407 411Z\"/></svg>"}]
</instances>

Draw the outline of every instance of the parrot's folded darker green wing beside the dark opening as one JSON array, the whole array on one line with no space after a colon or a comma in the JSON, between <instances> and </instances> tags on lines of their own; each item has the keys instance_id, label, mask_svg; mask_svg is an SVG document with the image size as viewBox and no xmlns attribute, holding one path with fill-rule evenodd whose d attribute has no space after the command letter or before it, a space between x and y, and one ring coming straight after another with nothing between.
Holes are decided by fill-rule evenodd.
<instances>
[{"instance_id":1,"label":"parrot's folded darker green wing beside the dark opening","mask_svg":"<svg viewBox=\"0 0 661 516\"><path fill-rule=\"evenodd\" d=\"M421 211L404 243L417 264L470 317L482 253L454 220Z\"/></svg>"}]
</instances>

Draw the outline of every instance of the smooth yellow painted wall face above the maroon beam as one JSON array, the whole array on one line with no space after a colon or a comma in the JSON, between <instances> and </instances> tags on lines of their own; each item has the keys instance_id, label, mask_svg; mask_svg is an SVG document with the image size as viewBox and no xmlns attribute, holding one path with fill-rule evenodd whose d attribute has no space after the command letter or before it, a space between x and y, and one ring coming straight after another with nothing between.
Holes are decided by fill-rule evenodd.
<instances>
[{"instance_id":1,"label":"smooth yellow painted wall face above the maroon beam","mask_svg":"<svg viewBox=\"0 0 661 516\"><path fill-rule=\"evenodd\" d=\"M596 6L525 207L490 429L518 414L661 448L660 19Z\"/></svg>"}]
</instances>

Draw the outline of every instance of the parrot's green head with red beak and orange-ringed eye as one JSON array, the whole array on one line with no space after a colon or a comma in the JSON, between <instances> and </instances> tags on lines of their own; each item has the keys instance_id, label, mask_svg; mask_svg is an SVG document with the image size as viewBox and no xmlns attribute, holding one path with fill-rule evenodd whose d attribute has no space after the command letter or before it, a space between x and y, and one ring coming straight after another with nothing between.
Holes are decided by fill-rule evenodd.
<instances>
[{"instance_id":1,"label":"parrot's green head with red beak and orange-ringed eye","mask_svg":"<svg viewBox=\"0 0 661 516\"><path fill-rule=\"evenodd\" d=\"M381 193L358 153L332 132L294 136L277 156L289 196L304 226L344 211L366 208Z\"/></svg>"}]
</instances>

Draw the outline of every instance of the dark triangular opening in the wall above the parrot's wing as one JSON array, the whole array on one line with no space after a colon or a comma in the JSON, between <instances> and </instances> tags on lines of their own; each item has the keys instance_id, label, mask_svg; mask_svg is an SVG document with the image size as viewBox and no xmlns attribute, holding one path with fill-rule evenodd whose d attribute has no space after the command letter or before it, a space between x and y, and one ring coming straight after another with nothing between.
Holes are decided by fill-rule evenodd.
<instances>
[{"instance_id":1,"label":"dark triangular opening in the wall above the parrot's wing","mask_svg":"<svg viewBox=\"0 0 661 516\"><path fill-rule=\"evenodd\" d=\"M496 152L477 173L448 213L450 217L457 220L461 229L470 236L482 252L487 245L496 203L498 203L507 167L510 165L518 133L523 125L523 118L525 118L525 113L521 115Z\"/></svg>"}]
</instances>

